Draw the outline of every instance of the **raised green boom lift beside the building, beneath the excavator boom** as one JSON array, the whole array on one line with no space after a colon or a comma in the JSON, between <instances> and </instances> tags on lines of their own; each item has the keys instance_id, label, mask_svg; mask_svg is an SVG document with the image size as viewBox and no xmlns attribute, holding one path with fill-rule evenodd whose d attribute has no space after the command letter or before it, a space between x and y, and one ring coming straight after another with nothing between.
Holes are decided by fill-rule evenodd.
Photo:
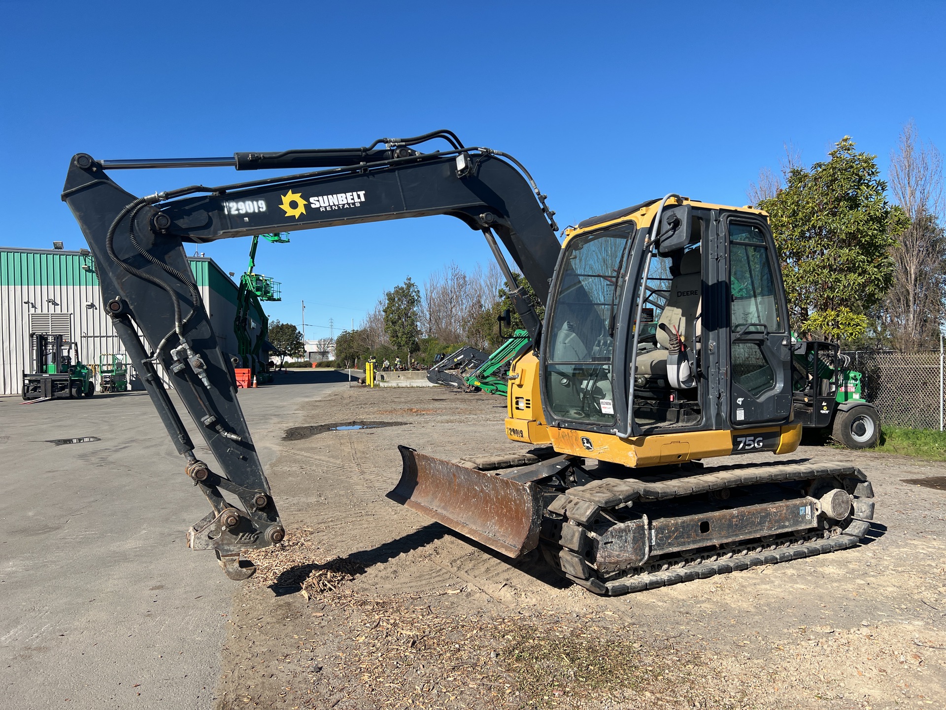
<instances>
[{"instance_id":1,"label":"raised green boom lift beside the building, beneath the excavator boom","mask_svg":"<svg viewBox=\"0 0 946 710\"><path fill-rule=\"evenodd\" d=\"M250 265L246 273L240 276L239 290L236 293L236 318L234 319L234 332L236 333L237 356L243 367L249 367L252 370L252 376L256 382L263 384L272 380L272 374L266 371L265 367L260 367L260 352L263 343L266 341L269 332L269 318L263 312L260 301L281 301L279 293L280 283L270 276L254 274L256 266L256 247L259 245L259 238L270 241L273 244L285 244L289 242L288 233L279 232L276 234L257 234L253 238L250 246ZM259 336L253 339L254 324L250 317L251 311L256 311L260 318Z\"/></svg>"}]
</instances>

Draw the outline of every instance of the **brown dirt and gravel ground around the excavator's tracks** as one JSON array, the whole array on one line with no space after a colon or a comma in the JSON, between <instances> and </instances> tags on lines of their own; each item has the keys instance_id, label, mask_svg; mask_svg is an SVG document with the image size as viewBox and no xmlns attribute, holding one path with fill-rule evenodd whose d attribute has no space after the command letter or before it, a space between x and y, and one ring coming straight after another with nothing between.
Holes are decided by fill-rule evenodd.
<instances>
[{"instance_id":1,"label":"brown dirt and gravel ground around the excavator's tracks","mask_svg":"<svg viewBox=\"0 0 946 710\"><path fill-rule=\"evenodd\" d=\"M290 533L234 599L220 708L946 707L946 490L903 483L942 466L803 447L867 472L864 544L604 598L385 498L397 444L517 451L504 408L352 388L287 418L311 427L269 470ZM401 425L317 426L352 421Z\"/></svg>"}]
</instances>

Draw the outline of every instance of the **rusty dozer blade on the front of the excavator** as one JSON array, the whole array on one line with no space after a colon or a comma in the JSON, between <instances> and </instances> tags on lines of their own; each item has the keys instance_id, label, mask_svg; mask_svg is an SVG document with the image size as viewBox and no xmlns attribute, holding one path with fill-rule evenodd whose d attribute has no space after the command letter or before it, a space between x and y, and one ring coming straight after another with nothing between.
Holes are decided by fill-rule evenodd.
<instances>
[{"instance_id":1,"label":"rusty dozer blade on the front of the excavator","mask_svg":"<svg viewBox=\"0 0 946 710\"><path fill-rule=\"evenodd\" d=\"M542 503L534 483L397 448L404 470L388 498L511 558L538 544Z\"/></svg>"}]
</instances>

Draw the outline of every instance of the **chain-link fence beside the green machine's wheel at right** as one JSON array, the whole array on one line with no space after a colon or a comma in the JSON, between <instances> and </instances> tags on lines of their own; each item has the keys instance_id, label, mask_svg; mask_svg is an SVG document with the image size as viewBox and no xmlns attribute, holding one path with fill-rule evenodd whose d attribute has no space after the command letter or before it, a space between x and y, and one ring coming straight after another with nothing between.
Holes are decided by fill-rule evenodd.
<instances>
[{"instance_id":1,"label":"chain-link fence beside the green machine's wheel at right","mask_svg":"<svg viewBox=\"0 0 946 710\"><path fill-rule=\"evenodd\" d=\"M940 429L943 359L940 350L916 353L858 350L846 352L850 366L864 376L862 392L881 413L881 421L914 429Z\"/></svg>"}]
</instances>

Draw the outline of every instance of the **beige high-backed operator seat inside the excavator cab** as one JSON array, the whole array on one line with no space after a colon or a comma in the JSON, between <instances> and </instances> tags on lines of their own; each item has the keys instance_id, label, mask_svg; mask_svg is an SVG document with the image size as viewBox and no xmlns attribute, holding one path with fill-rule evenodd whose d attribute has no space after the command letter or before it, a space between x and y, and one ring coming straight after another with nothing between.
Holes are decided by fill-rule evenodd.
<instances>
[{"instance_id":1,"label":"beige high-backed operator seat inside the excavator cab","mask_svg":"<svg viewBox=\"0 0 946 710\"><path fill-rule=\"evenodd\" d=\"M680 332L682 340L688 348L699 349L694 339L699 335L700 311L702 305L702 275L700 250L693 249L683 255L680 261L680 275L674 277L670 284L670 293L667 305L657 321L657 347L638 353L638 375L653 377L667 377L667 356L670 354L670 335L667 330L660 328L663 324L671 332L674 328Z\"/></svg>"}]
</instances>

